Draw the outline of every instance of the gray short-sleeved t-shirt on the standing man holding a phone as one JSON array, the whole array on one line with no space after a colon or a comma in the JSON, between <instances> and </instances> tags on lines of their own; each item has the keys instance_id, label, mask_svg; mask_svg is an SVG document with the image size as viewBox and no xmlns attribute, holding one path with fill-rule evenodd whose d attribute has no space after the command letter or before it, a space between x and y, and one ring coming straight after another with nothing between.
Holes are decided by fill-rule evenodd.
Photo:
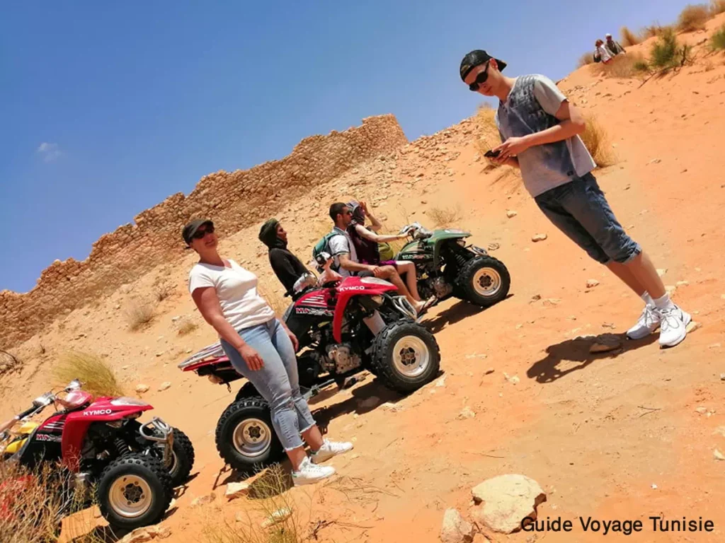
<instances>
[{"instance_id":1,"label":"gray short-sleeved t-shirt on the standing man holding a phone","mask_svg":"<svg viewBox=\"0 0 725 543\"><path fill-rule=\"evenodd\" d=\"M521 137L558 125L555 114L566 96L544 75L517 77L496 114L501 140ZM526 190L536 197L581 177L597 166L578 135L526 149L518 155Z\"/></svg>"}]
</instances>

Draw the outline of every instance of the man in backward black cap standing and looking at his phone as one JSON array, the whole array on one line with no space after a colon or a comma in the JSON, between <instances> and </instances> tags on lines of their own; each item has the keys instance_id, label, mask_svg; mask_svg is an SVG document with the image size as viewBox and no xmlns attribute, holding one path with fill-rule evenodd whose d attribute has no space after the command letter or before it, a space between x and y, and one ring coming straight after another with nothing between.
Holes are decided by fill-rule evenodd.
<instances>
[{"instance_id":1,"label":"man in backward black cap standing and looking at his phone","mask_svg":"<svg viewBox=\"0 0 725 543\"><path fill-rule=\"evenodd\" d=\"M677 345L691 317L670 300L652 261L624 232L597 185L596 164L579 138L586 127L581 113L548 77L506 77L505 67L481 50L460 63L470 90L499 98L496 124L503 143L487 158L521 169L523 185L544 215L644 300L629 338L660 328L660 346Z\"/></svg>"}]
</instances>

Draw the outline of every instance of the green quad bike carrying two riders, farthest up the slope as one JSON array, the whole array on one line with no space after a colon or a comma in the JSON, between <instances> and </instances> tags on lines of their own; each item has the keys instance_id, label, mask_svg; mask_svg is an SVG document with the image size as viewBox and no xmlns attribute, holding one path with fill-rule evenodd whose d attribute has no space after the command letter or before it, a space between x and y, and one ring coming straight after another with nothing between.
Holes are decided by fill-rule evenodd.
<instances>
[{"instance_id":1,"label":"green quad bike carrying two riders, farthest up the slope","mask_svg":"<svg viewBox=\"0 0 725 543\"><path fill-rule=\"evenodd\" d=\"M418 292L423 300L435 296L441 301L455 296L489 307L508 295L508 269L485 249L466 245L470 232L450 228L431 232L414 222L400 233L407 234L410 241L395 260L415 263Z\"/></svg>"}]
</instances>

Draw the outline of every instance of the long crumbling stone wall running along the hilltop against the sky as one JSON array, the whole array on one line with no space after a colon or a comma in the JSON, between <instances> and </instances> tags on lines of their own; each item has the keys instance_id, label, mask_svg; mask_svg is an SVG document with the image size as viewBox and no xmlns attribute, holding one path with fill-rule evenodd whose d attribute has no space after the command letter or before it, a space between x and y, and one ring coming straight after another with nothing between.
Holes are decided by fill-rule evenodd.
<instances>
[{"instance_id":1,"label":"long crumbling stone wall running along the hilltop against the sky","mask_svg":"<svg viewBox=\"0 0 725 543\"><path fill-rule=\"evenodd\" d=\"M266 218L297 194L407 144L393 115L368 117L344 132L305 138L285 158L202 177L188 196L171 195L94 243L84 261L54 261L27 293L0 291L0 349L27 340L54 319L183 254L181 228L210 216L223 235Z\"/></svg>"}]
</instances>

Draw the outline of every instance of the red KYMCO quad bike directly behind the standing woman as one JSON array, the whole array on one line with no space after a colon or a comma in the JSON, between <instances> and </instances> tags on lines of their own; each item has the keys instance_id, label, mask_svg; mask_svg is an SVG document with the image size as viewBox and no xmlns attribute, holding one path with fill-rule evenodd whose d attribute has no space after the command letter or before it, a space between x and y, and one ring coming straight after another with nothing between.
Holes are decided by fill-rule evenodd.
<instances>
[{"instance_id":1,"label":"red KYMCO quad bike directly behind the standing woman","mask_svg":"<svg viewBox=\"0 0 725 543\"><path fill-rule=\"evenodd\" d=\"M322 260L328 267L329 256L323 253ZM283 320L299 341L297 368L306 399L331 384L341 387L349 376L363 370L403 394L436 376L438 343L415 322L415 309L396 291L394 285L375 277L346 277L319 286L317 277L307 274L297 281L294 301ZM230 391L229 383L242 378L218 342L187 358L179 368L226 384ZM283 455L268 404L251 382L241 387L222 413L216 444L223 460L242 473L253 473Z\"/></svg>"}]
</instances>

